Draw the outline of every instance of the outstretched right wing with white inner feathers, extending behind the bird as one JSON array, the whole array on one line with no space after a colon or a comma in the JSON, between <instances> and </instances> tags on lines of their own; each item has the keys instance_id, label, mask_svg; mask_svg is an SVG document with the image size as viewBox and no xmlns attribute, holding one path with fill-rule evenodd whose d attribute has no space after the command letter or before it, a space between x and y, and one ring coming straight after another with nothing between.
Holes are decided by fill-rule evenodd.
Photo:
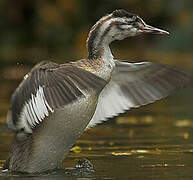
<instances>
[{"instance_id":1,"label":"outstretched right wing with white inner feathers, extending behind the bird","mask_svg":"<svg viewBox=\"0 0 193 180\"><path fill-rule=\"evenodd\" d=\"M102 90L95 114L87 127L168 96L193 82L192 74L151 62L115 61L110 82Z\"/></svg>"}]
</instances>

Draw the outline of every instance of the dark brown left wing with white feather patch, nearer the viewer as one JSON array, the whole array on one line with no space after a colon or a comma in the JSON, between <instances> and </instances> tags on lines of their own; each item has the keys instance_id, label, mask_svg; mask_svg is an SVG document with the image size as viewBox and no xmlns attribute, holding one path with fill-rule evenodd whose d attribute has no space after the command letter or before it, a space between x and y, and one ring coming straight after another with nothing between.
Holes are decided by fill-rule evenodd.
<instances>
[{"instance_id":1,"label":"dark brown left wing with white feather patch, nearer the viewer","mask_svg":"<svg viewBox=\"0 0 193 180\"><path fill-rule=\"evenodd\" d=\"M31 133L56 109L83 97L87 91L101 91L105 84L100 77L73 64L41 62L13 93L8 127Z\"/></svg>"}]
</instances>

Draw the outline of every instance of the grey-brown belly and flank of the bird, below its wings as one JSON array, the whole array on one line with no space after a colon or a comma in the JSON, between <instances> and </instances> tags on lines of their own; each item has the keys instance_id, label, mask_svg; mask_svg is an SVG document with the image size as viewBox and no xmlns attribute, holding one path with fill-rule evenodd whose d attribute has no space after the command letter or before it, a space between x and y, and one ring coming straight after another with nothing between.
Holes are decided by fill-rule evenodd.
<instances>
[{"instance_id":1,"label":"grey-brown belly and flank of the bird, below its wings","mask_svg":"<svg viewBox=\"0 0 193 180\"><path fill-rule=\"evenodd\" d=\"M95 93L81 97L75 103L68 104L46 117L33 134L21 140L28 144L30 149L17 148L18 143L13 144L14 157L18 158L16 161L21 164L19 169L14 167L14 170L42 172L59 167L92 118L97 98L98 94ZM17 149L20 152L17 152ZM35 151L31 151L32 149Z\"/></svg>"}]
</instances>

